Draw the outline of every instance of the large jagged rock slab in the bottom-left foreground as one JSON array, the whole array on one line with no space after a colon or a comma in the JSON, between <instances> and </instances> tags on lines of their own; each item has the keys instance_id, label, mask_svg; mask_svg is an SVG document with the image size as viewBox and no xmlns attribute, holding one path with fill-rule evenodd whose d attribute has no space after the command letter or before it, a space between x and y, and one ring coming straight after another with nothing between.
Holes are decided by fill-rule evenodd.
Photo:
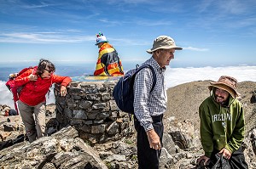
<instances>
[{"instance_id":1,"label":"large jagged rock slab in the bottom-left foreground","mask_svg":"<svg viewBox=\"0 0 256 169\"><path fill-rule=\"evenodd\" d=\"M22 142L0 151L0 168L93 168L107 169L100 156L73 127L29 144Z\"/></svg>"}]
</instances>

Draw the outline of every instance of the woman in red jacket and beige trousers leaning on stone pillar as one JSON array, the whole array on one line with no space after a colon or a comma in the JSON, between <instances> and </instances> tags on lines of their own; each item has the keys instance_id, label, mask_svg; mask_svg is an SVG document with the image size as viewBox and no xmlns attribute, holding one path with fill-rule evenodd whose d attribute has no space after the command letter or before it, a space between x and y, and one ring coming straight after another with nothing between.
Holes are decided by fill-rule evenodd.
<instances>
[{"instance_id":1,"label":"woman in red jacket and beige trousers leaning on stone pillar","mask_svg":"<svg viewBox=\"0 0 256 169\"><path fill-rule=\"evenodd\" d=\"M15 85L24 86L20 91L18 106L30 143L45 135L45 95L49 87L53 83L60 83L61 96L67 94L67 85L71 78L57 76L54 72L55 65L47 59L40 59L38 67L26 70L15 78Z\"/></svg>"}]
</instances>

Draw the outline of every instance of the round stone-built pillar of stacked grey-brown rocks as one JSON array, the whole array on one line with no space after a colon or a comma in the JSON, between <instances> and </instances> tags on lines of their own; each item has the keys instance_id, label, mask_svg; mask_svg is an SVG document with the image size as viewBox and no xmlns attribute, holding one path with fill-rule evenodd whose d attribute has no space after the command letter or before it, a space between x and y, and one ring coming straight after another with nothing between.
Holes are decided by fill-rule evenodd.
<instances>
[{"instance_id":1,"label":"round stone-built pillar of stacked grey-brown rocks","mask_svg":"<svg viewBox=\"0 0 256 169\"><path fill-rule=\"evenodd\" d=\"M92 145L131 136L132 121L118 109L112 96L115 84L115 81L72 82L66 97L61 97L60 86L55 85L59 129L75 127L79 138Z\"/></svg>"}]
</instances>

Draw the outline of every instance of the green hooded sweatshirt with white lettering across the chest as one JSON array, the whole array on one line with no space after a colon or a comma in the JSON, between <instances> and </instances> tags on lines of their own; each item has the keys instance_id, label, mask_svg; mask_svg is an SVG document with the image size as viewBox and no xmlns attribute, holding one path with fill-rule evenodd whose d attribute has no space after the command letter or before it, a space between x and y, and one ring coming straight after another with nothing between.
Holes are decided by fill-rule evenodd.
<instances>
[{"instance_id":1,"label":"green hooded sweatshirt with white lettering across the chest","mask_svg":"<svg viewBox=\"0 0 256 169\"><path fill-rule=\"evenodd\" d=\"M229 149L233 153L244 138L245 121L241 103L230 97L229 106L215 102L213 94L199 107L201 119L201 144L205 155L210 157L213 149Z\"/></svg>"}]
</instances>

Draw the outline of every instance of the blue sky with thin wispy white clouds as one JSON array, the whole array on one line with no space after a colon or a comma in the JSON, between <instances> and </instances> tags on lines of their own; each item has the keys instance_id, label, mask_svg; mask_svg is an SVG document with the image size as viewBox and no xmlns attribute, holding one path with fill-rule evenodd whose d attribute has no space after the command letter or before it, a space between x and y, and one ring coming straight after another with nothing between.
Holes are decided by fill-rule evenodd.
<instances>
[{"instance_id":1,"label":"blue sky with thin wispy white clouds","mask_svg":"<svg viewBox=\"0 0 256 169\"><path fill-rule=\"evenodd\" d=\"M96 62L102 33L123 63L155 37L183 47L171 66L256 65L255 0L0 0L1 62ZM125 65L125 64L124 64Z\"/></svg>"}]
</instances>

